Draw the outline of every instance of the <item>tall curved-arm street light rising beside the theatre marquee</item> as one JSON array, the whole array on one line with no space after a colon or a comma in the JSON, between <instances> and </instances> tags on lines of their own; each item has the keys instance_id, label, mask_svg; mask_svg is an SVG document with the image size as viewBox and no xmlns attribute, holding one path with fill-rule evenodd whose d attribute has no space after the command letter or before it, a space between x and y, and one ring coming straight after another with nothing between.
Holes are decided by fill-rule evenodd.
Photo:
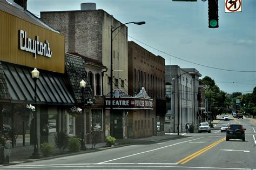
<instances>
[{"instance_id":1,"label":"tall curved-arm street light rising beside the theatre marquee","mask_svg":"<svg viewBox=\"0 0 256 170\"><path fill-rule=\"evenodd\" d=\"M111 25L111 43L110 43L110 134L113 135L113 128L112 128L112 111L113 111L113 32L116 31L118 28L120 28L121 26L124 26L126 24L136 24L136 25L142 25L145 24L146 22L142 21L142 22L129 22L129 23L125 23L122 24L120 26L118 26L117 28L113 28L113 25Z\"/></svg>"}]
</instances>

